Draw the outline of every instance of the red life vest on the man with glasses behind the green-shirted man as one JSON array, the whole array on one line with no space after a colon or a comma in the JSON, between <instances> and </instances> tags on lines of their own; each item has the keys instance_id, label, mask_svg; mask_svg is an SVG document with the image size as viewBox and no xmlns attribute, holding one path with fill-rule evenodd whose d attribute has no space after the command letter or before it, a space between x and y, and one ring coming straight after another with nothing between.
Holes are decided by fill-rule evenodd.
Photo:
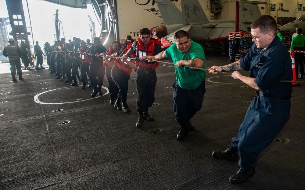
<instances>
[{"instance_id":1,"label":"red life vest on the man with glasses behind the green-shirted man","mask_svg":"<svg viewBox=\"0 0 305 190\"><path fill-rule=\"evenodd\" d=\"M160 43L159 38L157 36L150 35L150 40L144 47L144 43L142 42L141 38L138 38L138 43L136 46L136 56L138 58L141 58L145 55L154 55L155 51L155 44L162 46L162 43ZM152 70L156 70L156 68L159 66L159 62L148 62L147 60L139 60L136 62L137 66L141 66L143 69L151 68Z\"/></svg>"}]
</instances>

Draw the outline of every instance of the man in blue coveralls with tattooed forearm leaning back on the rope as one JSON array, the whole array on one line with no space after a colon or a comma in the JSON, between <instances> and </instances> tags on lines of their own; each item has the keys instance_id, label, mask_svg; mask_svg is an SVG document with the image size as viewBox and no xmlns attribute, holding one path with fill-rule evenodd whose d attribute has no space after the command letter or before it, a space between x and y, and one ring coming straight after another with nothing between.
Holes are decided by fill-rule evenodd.
<instances>
[{"instance_id":1,"label":"man in blue coveralls with tattooed forearm leaning back on the rope","mask_svg":"<svg viewBox=\"0 0 305 190\"><path fill-rule=\"evenodd\" d=\"M240 169L229 178L233 184L243 183L255 174L256 158L280 133L290 116L292 85L279 81L292 80L291 59L287 48L276 35L276 29L277 24L271 16L258 17L251 24L254 44L246 57L209 69L213 74L217 71L235 71L232 77L243 81L256 92L231 145L212 154L213 157L230 161L237 161L240 156ZM240 74L240 70L249 71L250 77Z\"/></svg>"}]
</instances>

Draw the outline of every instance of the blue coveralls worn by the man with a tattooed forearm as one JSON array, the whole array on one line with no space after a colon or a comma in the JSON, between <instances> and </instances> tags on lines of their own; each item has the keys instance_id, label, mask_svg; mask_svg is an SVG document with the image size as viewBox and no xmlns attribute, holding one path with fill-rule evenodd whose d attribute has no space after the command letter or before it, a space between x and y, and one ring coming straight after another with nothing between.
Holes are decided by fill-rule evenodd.
<instances>
[{"instance_id":1,"label":"blue coveralls worn by the man with a tattooed forearm","mask_svg":"<svg viewBox=\"0 0 305 190\"><path fill-rule=\"evenodd\" d=\"M292 80L291 58L285 45L275 36L266 50L255 44L242 60L241 67L250 71L250 77L261 89L257 91L231 145L238 149L239 167L245 171L256 165L256 158L287 123L290 116L291 83L278 82ZM259 94L263 94L259 95Z\"/></svg>"}]
</instances>

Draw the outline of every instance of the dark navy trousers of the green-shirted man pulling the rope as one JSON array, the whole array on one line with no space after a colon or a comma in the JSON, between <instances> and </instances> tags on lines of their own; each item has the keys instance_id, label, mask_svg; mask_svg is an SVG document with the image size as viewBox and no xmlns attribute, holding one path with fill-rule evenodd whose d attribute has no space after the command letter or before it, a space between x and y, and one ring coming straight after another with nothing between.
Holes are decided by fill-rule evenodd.
<instances>
[{"instance_id":1,"label":"dark navy trousers of the green-shirted man pulling the rope","mask_svg":"<svg viewBox=\"0 0 305 190\"><path fill-rule=\"evenodd\" d=\"M187 123L202 107L206 82L203 81L196 89L187 90L181 88L176 81L173 84L174 105L176 121L179 124Z\"/></svg>"}]
</instances>

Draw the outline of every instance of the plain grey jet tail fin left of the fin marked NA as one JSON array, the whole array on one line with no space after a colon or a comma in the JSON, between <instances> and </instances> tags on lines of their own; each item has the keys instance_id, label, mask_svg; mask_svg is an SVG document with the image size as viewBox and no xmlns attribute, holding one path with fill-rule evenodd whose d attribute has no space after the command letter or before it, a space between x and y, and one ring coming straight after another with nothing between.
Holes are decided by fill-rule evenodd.
<instances>
[{"instance_id":1,"label":"plain grey jet tail fin left of the fin marked NA","mask_svg":"<svg viewBox=\"0 0 305 190\"><path fill-rule=\"evenodd\" d=\"M164 24L181 24L181 11L170 0L155 0Z\"/></svg>"}]
</instances>

